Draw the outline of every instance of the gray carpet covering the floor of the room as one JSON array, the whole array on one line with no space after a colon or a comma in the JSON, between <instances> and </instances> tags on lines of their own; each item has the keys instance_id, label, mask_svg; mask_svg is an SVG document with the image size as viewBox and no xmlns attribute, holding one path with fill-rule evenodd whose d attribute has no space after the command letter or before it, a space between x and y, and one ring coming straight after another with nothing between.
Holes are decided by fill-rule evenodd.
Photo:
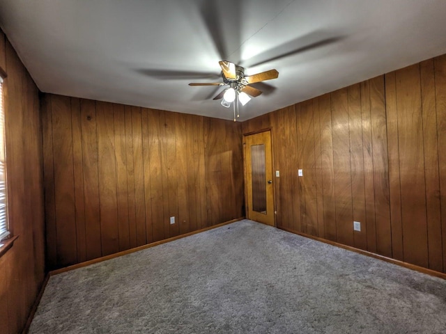
<instances>
[{"instance_id":1,"label":"gray carpet covering the floor of the room","mask_svg":"<svg viewBox=\"0 0 446 334\"><path fill-rule=\"evenodd\" d=\"M446 333L446 281L244 220L52 276L30 333Z\"/></svg>"}]
</instances>

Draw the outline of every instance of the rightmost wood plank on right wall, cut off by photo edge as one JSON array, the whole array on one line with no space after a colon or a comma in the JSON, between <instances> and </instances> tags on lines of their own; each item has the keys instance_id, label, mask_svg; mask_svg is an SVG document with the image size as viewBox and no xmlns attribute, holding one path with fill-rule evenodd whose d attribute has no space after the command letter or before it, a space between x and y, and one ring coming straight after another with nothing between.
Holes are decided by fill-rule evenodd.
<instances>
[{"instance_id":1,"label":"rightmost wood plank on right wall, cut off by photo edge","mask_svg":"<svg viewBox=\"0 0 446 334\"><path fill-rule=\"evenodd\" d=\"M434 59L437 106L438 148L446 148L446 55ZM441 151L440 151L441 152ZM438 154L440 175L441 231L443 239L443 272L446 271L446 156Z\"/></svg>"}]
</instances>

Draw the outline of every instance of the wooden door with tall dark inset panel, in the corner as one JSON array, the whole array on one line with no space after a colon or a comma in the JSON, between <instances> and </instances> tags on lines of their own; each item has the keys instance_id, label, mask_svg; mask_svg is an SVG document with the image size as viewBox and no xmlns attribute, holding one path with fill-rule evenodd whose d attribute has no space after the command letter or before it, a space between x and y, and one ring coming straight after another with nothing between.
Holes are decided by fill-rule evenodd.
<instances>
[{"instance_id":1,"label":"wooden door with tall dark inset panel, in the corner","mask_svg":"<svg viewBox=\"0 0 446 334\"><path fill-rule=\"evenodd\" d=\"M245 136L247 218L274 226L271 132Z\"/></svg>"}]
</instances>

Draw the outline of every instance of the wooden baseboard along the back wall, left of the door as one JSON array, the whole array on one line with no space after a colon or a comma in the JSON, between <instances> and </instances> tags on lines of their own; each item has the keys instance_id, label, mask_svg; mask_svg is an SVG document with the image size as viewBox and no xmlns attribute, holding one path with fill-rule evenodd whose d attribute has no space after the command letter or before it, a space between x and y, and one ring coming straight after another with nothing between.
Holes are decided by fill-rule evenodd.
<instances>
[{"instance_id":1,"label":"wooden baseboard along the back wall, left of the door","mask_svg":"<svg viewBox=\"0 0 446 334\"><path fill-rule=\"evenodd\" d=\"M143 250L143 249L146 249L146 248L151 248L153 246L158 246L158 245L161 245L161 244L165 244L165 243L170 242L170 241L174 241L174 240L177 240L177 239L189 237L189 236L191 236L193 234L205 232L205 231L208 231L208 230L213 230L214 228L220 228L221 226L228 225L228 224L234 223L236 221L241 221L242 219L245 219L245 217L236 218L236 219L233 219L231 221L225 221L224 223L220 223L220 224L217 224L217 225L209 226L207 228L201 228L201 230L196 230L196 231L193 231L193 232L180 234L180 235L177 235L176 237L171 237L169 239L155 241L155 242L153 242L151 244L146 244L146 245L135 247L135 248L131 248L131 249L128 249L128 250L123 250L122 252L118 252L118 253L102 256L102 257L98 257L97 259L89 260L89 261L86 261L86 262L81 262L81 263L78 263L78 264L73 264L72 266L69 266L69 267L52 270L52 271L49 271L49 275L50 276L57 275L58 273L65 273L66 271L70 271L70 270L86 267L86 266L89 266L90 264L93 264L93 263L98 263L98 262L114 259L115 257L127 255L127 254L130 254L130 253L137 252L139 250Z\"/></svg>"}]
</instances>

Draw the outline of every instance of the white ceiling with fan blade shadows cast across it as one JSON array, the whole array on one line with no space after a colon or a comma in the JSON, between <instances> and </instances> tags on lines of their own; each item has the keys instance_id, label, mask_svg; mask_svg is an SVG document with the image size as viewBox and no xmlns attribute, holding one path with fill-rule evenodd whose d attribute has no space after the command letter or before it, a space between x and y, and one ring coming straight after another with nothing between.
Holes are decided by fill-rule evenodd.
<instances>
[{"instance_id":1,"label":"white ceiling with fan blade shadows cast across it","mask_svg":"<svg viewBox=\"0 0 446 334\"><path fill-rule=\"evenodd\" d=\"M279 71L246 120L446 54L445 17L445 0L0 0L43 92L228 120L223 88L187 85L220 60Z\"/></svg>"}]
</instances>

